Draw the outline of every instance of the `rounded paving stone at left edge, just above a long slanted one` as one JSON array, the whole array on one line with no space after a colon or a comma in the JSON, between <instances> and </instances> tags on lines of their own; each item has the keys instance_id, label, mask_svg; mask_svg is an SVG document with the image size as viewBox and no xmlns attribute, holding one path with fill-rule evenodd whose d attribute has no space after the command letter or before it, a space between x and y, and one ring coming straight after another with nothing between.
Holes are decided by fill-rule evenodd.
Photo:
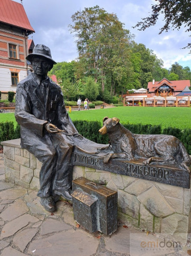
<instances>
[{"instance_id":1,"label":"rounded paving stone at left edge, just above a long slanted one","mask_svg":"<svg viewBox=\"0 0 191 256\"><path fill-rule=\"evenodd\" d=\"M17 218L18 216L23 215L24 213L26 213L28 211L28 208L25 204L25 202L23 202L23 200L18 199L14 202L13 205L8 206L3 213L0 214L0 218L2 218L3 220L8 220L11 221L15 218Z\"/></svg>"}]
</instances>

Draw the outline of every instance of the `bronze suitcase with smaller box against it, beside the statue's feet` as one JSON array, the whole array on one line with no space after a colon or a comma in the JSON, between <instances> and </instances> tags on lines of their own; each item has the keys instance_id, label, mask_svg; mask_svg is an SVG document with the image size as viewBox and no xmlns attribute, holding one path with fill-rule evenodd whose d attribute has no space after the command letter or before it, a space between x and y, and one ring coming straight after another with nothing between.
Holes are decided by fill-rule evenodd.
<instances>
[{"instance_id":1,"label":"bronze suitcase with smaller box against it, beside the statue's feet","mask_svg":"<svg viewBox=\"0 0 191 256\"><path fill-rule=\"evenodd\" d=\"M74 219L89 232L117 229L117 192L83 177L72 181Z\"/></svg>"}]
</instances>

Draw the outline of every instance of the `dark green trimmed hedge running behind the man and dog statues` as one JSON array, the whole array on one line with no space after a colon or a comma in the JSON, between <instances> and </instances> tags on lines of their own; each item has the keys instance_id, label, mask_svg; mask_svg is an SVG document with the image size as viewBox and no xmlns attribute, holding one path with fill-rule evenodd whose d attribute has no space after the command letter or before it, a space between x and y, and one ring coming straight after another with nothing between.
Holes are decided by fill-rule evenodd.
<instances>
[{"instance_id":1,"label":"dark green trimmed hedge running behind the man and dog statues","mask_svg":"<svg viewBox=\"0 0 191 256\"><path fill-rule=\"evenodd\" d=\"M108 144L108 136L100 135L98 130L102 127L99 121L84 121L76 120L73 122L79 133L87 139L96 143ZM178 138L185 146L188 154L191 155L191 129L180 130L178 128L167 127L163 130L161 126L152 125L136 125L131 123L122 123L124 127L135 134L166 134L173 135ZM14 129L13 122L1 122L0 123L0 141L20 138L20 126L17 125Z\"/></svg>"}]
</instances>

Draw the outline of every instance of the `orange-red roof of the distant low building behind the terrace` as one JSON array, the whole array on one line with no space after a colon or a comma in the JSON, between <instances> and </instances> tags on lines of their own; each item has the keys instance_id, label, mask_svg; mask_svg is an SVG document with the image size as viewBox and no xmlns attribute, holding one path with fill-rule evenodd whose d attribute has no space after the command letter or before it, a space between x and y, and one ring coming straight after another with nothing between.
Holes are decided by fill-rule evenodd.
<instances>
[{"instance_id":1,"label":"orange-red roof of the distant low building behind the terrace","mask_svg":"<svg viewBox=\"0 0 191 256\"><path fill-rule=\"evenodd\" d=\"M163 84L167 84L169 87L174 89L175 92L182 92L186 86L190 87L189 80L179 80L179 81L169 81L166 78L163 78L161 81L157 81L154 84L148 82L149 92L155 92L155 90Z\"/></svg>"}]
</instances>

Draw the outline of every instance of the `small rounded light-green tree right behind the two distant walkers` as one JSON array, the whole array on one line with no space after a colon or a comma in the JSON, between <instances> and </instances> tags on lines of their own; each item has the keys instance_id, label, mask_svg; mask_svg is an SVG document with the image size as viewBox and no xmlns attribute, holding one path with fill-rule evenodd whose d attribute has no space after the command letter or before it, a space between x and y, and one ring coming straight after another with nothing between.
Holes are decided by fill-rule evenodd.
<instances>
[{"instance_id":1,"label":"small rounded light-green tree right behind the two distant walkers","mask_svg":"<svg viewBox=\"0 0 191 256\"><path fill-rule=\"evenodd\" d=\"M84 95L89 100L93 101L97 99L99 94L99 85L95 83L91 77L87 78L87 82L85 83Z\"/></svg>"}]
</instances>

